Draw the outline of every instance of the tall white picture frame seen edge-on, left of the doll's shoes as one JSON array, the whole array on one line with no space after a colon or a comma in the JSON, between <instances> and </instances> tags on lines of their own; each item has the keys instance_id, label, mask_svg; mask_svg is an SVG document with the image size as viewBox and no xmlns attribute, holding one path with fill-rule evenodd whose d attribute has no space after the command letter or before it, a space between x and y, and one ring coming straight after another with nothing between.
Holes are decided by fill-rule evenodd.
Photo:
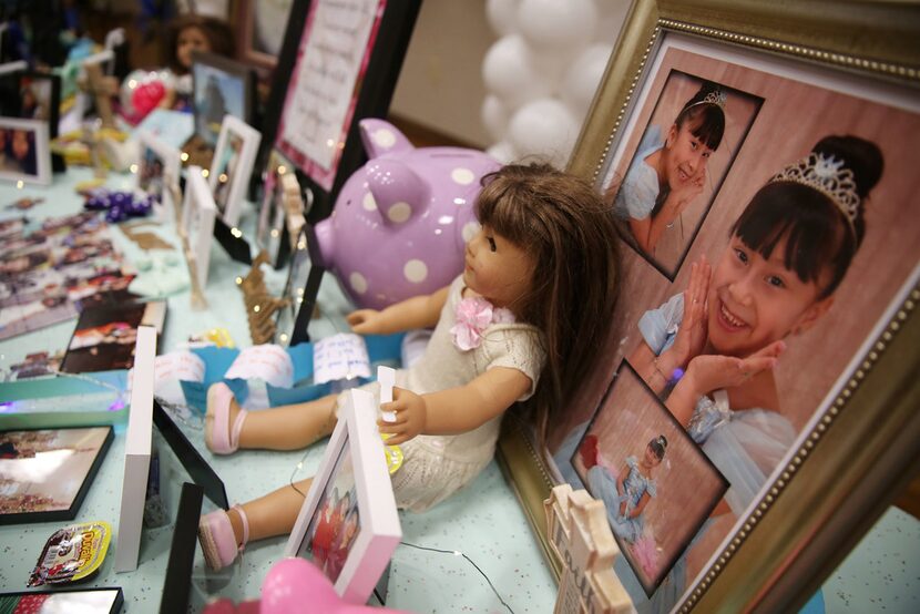
<instances>
[{"instance_id":1,"label":"tall white picture frame seen edge-on, left of the doll's shoes","mask_svg":"<svg viewBox=\"0 0 920 614\"><path fill-rule=\"evenodd\" d=\"M141 529L144 523L147 473L153 444L153 379L156 358L156 328L137 327L131 381L131 411L124 441L124 478L116 533L115 571L137 569Z\"/></svg>"}]
</instances>

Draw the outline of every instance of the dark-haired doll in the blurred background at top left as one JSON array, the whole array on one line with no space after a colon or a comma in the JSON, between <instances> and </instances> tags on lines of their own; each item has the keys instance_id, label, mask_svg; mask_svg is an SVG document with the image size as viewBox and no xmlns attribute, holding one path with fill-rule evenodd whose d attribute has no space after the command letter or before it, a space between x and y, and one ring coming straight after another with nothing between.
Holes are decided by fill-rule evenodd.
<instances>
[{"instance_id":1,"label":"dark-haired doll in the blurred background at top left","mask_svg":"<svg viewBox=\"0 0 920 614\"><path fill-rule=\"evenodd\" d=\"M166 79L166 93L160 101L160 106L176 110L186 110L191 105L192 54L200 51L232 58L235 50L229 25L214 18L194 14L173 20L166 45L166 69L170 74Z\"/></svg>"}]
</instances>

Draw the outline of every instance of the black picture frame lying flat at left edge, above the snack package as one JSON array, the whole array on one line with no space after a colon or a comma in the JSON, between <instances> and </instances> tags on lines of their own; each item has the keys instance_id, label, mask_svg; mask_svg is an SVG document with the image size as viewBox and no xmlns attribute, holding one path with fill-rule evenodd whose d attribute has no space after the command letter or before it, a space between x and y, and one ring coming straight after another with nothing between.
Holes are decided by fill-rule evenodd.
<instances>
[{"instance_id":1,"label":"black picture frame lying flat at left edge, above the snack package","mask_svg":"<svg viewBox=\"0 0 920 614\"><path fill-rule=\"evenodd\" d=\"M73 520L76 518L76 512L80 511L80 506L83 504L83 500L86 498L86 493L92 485L93 480L95 479L95 474L99 471L100 465L102 464L103 459L105 458L105 453L109 451L109 448L112 444L112 440L114 439L114 431L112 430L111 426L90 426L90 427L65 427L65 428L52 428L52 429L4 429L0 431L0 446L3 447L3 454L7 458L10 458L11 454L20 454L22 453L19 448L17 448L16 442L9 441L4 436L9 436L9 433L55 433L61 431L86 431L86 434L90 434L90 431L99 429L102 434L104 432L104 437L102 441L98 444L99 447L95 449L92 460L89 463L89 467L85 468L85 471L82 474L82 481L80 483L80 488L73 494L70 503L67 508L59 508L53 510L44 510L44 511L25 511L25 512L11 512L0 509L0 525L2 524L21 524L21 523L32 523L32 522L52 522L52 521L62 521L62 520ZM20 446L21 448L21 446ZM18 456L12 458L19 458ZM72 467L72 465L68 465ZM64 468L67 469L67 468ZM0 479L7 481L7 478L0 473ZM34 493L29 493L33 498L35 497ZM11 504L9 500L9 495L3 495L0 499L3 502L3 508ZM67 503L67 502L63 502Z\"/></svg>"}]
</instances>

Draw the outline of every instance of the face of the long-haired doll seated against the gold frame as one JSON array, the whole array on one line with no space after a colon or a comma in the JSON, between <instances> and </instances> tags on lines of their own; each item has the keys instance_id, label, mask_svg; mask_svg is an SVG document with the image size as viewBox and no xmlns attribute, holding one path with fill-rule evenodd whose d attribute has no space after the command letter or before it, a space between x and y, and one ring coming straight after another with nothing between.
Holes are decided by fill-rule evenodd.
<instances>
[{"instance_id":1,"label":"face of the long-haired doll seated against the gold frame","mask_svg":"<svg viewBox=\"0 0 920 614\"><path fill-rule=\"evenodd\" d=\"M532 258L488 226L467 244L463 284L495 307L511 308L524 296L533 272Z\"/></svg>"}]
</instances>

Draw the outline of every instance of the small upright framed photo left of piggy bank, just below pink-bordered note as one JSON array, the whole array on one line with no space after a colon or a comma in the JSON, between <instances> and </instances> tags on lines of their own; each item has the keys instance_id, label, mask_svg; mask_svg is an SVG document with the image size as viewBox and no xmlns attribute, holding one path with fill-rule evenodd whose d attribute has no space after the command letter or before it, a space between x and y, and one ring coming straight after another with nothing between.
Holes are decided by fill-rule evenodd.
<instances>
[{"instance_id":1,"label":"small upright framed photo left of piggy bank, just below pink-bordered note","mask_svg":"<svg viewBox=\"0 0 920 614\"><path fill-rule=\"evenodd\" d=\"M297 222L293 222L292 217ZM273 152L265 173L256 246L268 254L275 268L287 263L290 237L297 236L298 226L304 223L304 199L294 166L278 152Z\"/></svg>"}]
</instances>

